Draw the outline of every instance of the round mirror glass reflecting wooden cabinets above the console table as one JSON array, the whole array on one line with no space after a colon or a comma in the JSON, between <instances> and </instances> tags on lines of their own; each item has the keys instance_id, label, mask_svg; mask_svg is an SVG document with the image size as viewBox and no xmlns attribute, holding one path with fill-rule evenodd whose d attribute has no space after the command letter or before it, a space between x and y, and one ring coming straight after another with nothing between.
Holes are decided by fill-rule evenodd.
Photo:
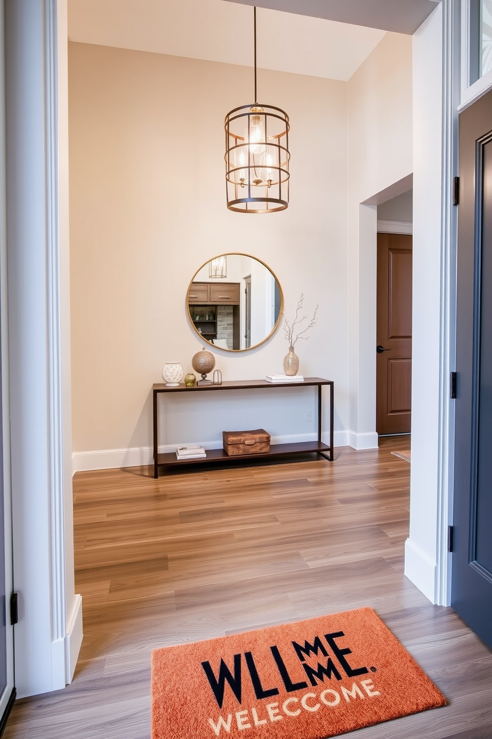
<instances>
[{"instance_id":1,"label":"round mirror glass reflecting wooden cabinets above the console table","mask_svg":"<svg viewBox=\"0 0 492 739\"><path fill-rule=\"evenodd\" d=\"M283 296L274 273L260 259L221 254L193 276L187 306L204 341L241 351L262 344L278 327Z\"/></svg>"}]
</instances>

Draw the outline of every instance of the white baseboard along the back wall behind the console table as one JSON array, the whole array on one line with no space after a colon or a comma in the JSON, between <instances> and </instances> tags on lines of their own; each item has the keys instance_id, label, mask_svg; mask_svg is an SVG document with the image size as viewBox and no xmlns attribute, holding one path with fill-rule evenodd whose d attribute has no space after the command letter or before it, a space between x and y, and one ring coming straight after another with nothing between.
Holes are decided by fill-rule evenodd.
<instances>
[{"instance_id":1,"label":"white baseboard along the back wall behind the console table","mask_svg":"<svg viewBox=\"0 0 492 739\"><path fill-rule=\"evenodd\" d=\"M376 444L378 446L376 437ZM297 434L291 436L272 436L272 444L288 444L298 443L302 441L312 441L316 439L316 434ZM322 440L325 444L330 442L329 435L322 433ZM186 440L179 443L186 443ZM166 444L159 446L159 454L166 452L175 452L179 443ZM197 442L198 443L198 442ZM333 435L334 446L353 446L350 443L350 432L336 431ZM212 442L201 442L204 449L221 449L222 439ZM358 449L373 449L373 446L360 446ZM357 447L356 447L357 449ZM133 449L100 449L96 452L73 452L72 454L72 474L75 472L87 472L94 469L120 469L122 467L140 467L153 463L153 449L150 446L139 446Z\"/></svg>"}]
</instances>

